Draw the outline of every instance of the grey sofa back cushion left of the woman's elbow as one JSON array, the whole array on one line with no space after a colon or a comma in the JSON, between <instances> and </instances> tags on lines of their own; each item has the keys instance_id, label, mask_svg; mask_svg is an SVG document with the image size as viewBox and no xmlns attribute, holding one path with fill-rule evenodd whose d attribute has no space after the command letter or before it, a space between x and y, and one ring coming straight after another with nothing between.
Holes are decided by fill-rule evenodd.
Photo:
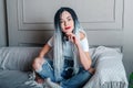
<instances>
[{"instance_id":1,"label":"grey sofa back cushion left of the woman's elbow","mask_svg":"<svg viewBox=\"0 0 133 88\"><path fill-rule=\"evenodd\" d=\"M30 70L31 63L38 56L40 47L1 47L0 68Z\"/></svg>"}]
</instances>

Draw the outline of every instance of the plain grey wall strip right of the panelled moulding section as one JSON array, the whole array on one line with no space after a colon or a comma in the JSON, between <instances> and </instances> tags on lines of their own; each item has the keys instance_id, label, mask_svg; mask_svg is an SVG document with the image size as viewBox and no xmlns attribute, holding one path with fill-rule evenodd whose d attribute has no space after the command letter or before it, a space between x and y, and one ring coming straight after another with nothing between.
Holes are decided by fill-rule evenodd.
<instances>
[{"instance_id":1,"label":"plain grey wall strip right of the panelled moulding section","mask_svg":"<svg viewBox=\"0 0 133 88\"><path fill-rule=\"evenodd\" d=\"M133 0L124 2L124 65L127 76L133 72Z\"/></svg>"}]
</instances>

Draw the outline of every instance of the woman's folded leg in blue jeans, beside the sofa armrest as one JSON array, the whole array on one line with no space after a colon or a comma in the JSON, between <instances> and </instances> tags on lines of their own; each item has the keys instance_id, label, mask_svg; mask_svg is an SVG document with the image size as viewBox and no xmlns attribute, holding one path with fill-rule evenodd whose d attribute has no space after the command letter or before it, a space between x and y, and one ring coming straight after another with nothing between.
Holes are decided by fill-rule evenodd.
<instances>
[{"instance_id":1,"label":"woman's folded leg in blue jeans, beside the sofa armrest","mask_svg":"<svg viewBox=\"0 0 133 88\"><path fill-rule=\"evenodd\" d=\"M92 74L90 72L81 68L78 75L61 81L60 85L62 88L82 88L91 77Z\"/></svg>"}]
</instances>

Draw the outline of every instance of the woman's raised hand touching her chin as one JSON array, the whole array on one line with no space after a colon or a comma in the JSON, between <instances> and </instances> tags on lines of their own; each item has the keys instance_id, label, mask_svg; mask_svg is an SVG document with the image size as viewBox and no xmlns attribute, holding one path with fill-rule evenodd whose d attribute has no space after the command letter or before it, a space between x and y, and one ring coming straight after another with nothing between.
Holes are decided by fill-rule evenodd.
<instances>
[{"instance_id":1,"label":"woman's raised hand touching her chin","mask_svg":"<svg viewBox=\"0 0 133 88\"><path fill-rule=\"evenodd\" d=\"M80 44L80 38L75 34L73 34L73 33L66 33L66 36L68 36L69 41L71 41L75 45Z\"/></svg>"}]
</instances>

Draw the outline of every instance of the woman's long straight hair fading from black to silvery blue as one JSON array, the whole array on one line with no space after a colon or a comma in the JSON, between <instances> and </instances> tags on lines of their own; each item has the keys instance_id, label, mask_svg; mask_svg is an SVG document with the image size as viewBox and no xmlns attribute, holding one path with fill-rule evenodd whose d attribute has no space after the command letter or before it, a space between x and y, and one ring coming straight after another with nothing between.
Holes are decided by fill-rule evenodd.
<instances>
[{"instance_id":1,"label":"woman's long straight hair fading from black to silvery blue","mask_svg":"<svg viewBox=\"0 0 133 88\"><path fill-rule=\"evenodd\" d=\"M75 14L75 12L71 9L71 8L60 8L55 15L54 15L54 54L53 54L53 66L54 66L54 76L55 76L55 80L60 80L61 79L61 72L63 70L63 65L64 65L64 56L63 56L63 33L61 30L61 25L60 25L60 16L62 14L63 11L68 11L73 21L74 21L74 29L73 29L73 33L75 35L79 36L79 30L80 28L80 22L78 20L78 16ZM76 74L79 72L79 64L78 64L78 54L76 54L76 47L74 44L72 44L72 51L73 51L73 59L74 59L74 73Z\"/></svg>"}]
</instances>

